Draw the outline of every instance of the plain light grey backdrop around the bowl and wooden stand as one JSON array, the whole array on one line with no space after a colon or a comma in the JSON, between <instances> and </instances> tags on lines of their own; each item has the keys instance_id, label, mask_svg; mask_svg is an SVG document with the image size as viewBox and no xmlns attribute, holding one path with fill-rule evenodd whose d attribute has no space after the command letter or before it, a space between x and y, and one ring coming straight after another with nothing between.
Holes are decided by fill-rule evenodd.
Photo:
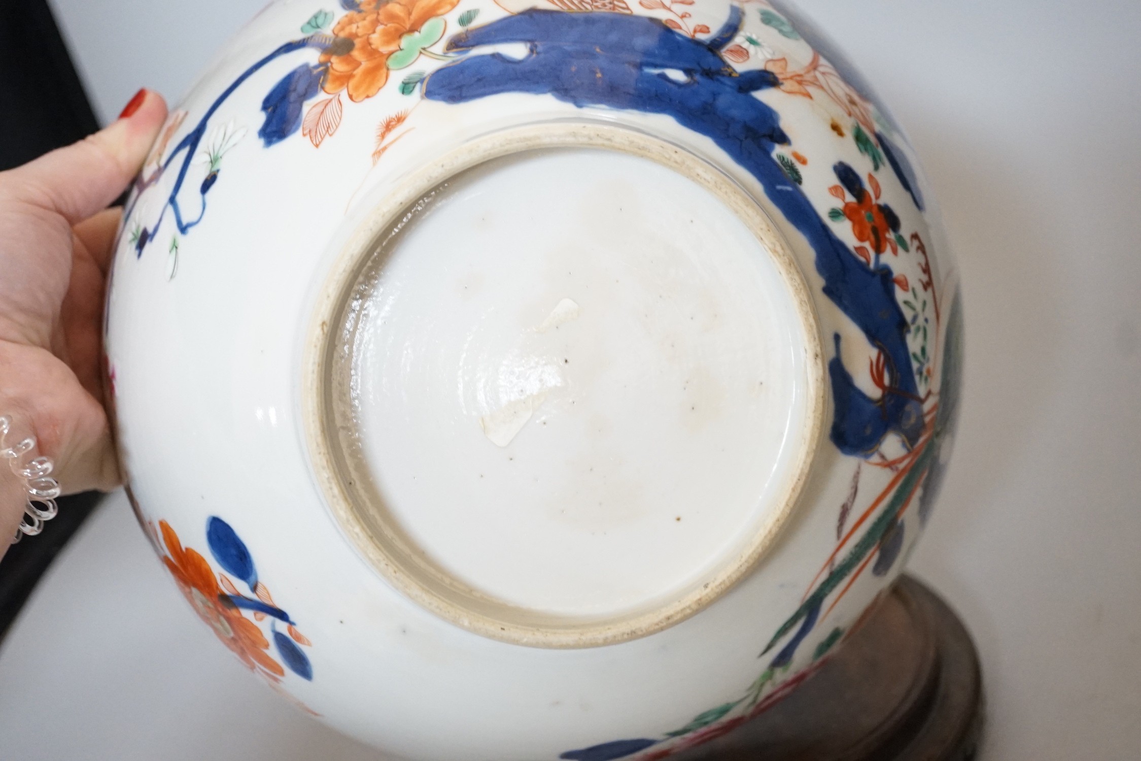
<instances>
[{"instance_id":1,"label":"plain light grey backdrop around the bowl and wooden stand","mask_svg":"<svg viewBox=\"0 0 1141 761\"><path fill-rule=\"evenodd\" d=\"M106 120L177 97L260 2L54 5ZM981 758L1141 758L1141 5L802 6L911 132L962 264L964 413L912 568L978 641ZM121 495L5 642L0 755L377 758L213 641Z\"/></svg>"}]
</instances>

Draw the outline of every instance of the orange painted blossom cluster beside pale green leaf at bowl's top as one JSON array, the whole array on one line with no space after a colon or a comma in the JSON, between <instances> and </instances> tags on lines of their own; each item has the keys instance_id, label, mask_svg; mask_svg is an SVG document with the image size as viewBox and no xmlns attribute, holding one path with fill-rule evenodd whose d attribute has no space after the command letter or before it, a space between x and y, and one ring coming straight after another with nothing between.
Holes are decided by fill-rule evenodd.
<instances>
[{"instance_id":1,"label":"orange painted blossom cluster beside pale green leaf at bowl's top","mask_svg":"<svg viewBox=\"0 0 1141 761\"><path fill-rule=\"evenodd\" d=\"M322 83L325 92L348 90L349 98L357 103L380 92L388 81L388 59L402 50L402 42L414 56L419 50L413 48L427 41L416 39L424 25L458 3L459 0L363 0L357 10L337 22L332 30L335 39L321 54L319 62L329 64ZM439 33L443 34L443 27Z\"/></svg>"}]
</instances>

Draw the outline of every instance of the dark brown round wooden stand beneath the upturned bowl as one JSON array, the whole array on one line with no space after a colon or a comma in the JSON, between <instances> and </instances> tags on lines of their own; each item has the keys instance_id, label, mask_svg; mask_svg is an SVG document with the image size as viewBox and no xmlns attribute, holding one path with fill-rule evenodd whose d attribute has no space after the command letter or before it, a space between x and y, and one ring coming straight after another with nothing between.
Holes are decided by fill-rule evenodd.
<instances>
[{"instance_id":1,"label":"dark brown round wooden stand beneath the upturned bowl","mask_svg":"<svg viewBox=\"0 0 1141 761\"><path fill-rule=\"evenodd\" d=\"M981 724L970 634L904 576L816 675L677 761L970 761Z\"/></svg>"}]
</instances>

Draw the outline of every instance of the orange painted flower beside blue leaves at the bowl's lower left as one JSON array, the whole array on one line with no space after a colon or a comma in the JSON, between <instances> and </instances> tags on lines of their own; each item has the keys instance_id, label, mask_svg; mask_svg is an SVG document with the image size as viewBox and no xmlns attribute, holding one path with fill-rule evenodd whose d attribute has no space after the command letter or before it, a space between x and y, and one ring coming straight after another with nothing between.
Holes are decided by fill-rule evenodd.
<instances>
[{"instance_id":1,"label":"orange painted flower beside blue leaves at the bowl's lower left","mask_svg":"<svg viewBox=\"0 0 1141 761\"><path fill-rule=\"evenodd\" d=\"M178 534L165 520L159 521L159 528L167 549L162 561L202 621L250 670L260 669L259 673L275 681L284 677L281 664L266 653L269 641L257 624L229 602L207 559L194 550L183 549Z\"/></svg>"}]
</instances>

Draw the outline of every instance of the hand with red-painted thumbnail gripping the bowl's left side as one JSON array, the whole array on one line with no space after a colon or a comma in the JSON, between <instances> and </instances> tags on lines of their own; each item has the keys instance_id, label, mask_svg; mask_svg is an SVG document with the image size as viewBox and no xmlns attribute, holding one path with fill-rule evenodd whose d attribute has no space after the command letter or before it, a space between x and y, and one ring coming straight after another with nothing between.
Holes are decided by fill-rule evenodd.
<instances>
[{"instance_id":1,"label":"hand with red-painted thumbnail gripping the bowl's left side","mask_svg":"<svg viewBox=\"0 0 1141 761\"><path fill-rule=\"evenodd\" d=\"M106 129L0 172L0 415L55 463L64 493L122 477L103 389L103 310L121 209L167 116L141 90ZM0 465L0 557L21 521L22 484Z\"/></svg>"}]
</instances>

